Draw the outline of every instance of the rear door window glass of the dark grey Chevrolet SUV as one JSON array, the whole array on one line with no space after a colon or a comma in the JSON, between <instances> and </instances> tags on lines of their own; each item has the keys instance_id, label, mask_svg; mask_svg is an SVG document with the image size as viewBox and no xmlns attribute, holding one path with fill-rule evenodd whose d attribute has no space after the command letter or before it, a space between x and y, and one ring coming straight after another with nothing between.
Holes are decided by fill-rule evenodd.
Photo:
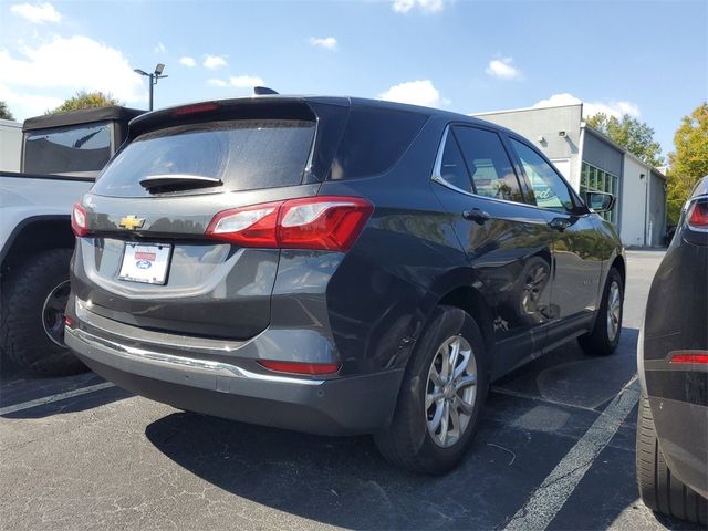
<instances>
[{"instance_id":1,"label":"rear door window glass of the dark grey Chevrolet SUV","mask_svg":"<svg viewBox=\"0 0 708 531\"><path fill-rule=\"evenodd\" d=\"M525 202L499 135L477 127L454 127L478 196Z\"/></svg>"}]
</instances>

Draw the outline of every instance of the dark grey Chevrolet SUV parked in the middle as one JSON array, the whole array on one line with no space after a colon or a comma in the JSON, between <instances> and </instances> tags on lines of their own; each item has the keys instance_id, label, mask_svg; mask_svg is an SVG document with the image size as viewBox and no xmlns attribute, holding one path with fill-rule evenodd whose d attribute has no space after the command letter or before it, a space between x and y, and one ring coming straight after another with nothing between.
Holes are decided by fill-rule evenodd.
<instances>
[{"instance_id":1,"label":"dark grey Chevrolet SUV parked in the middle","mask_svg":"<svg viewBox=\"0 0 708 531\"><path fill-rule=\"evenodd\" d=\"M591 195L598 208L613 197ZM440 473L489 384L617 345L614 228L519 135L347 97L146 114L73 212L66 343L175 407Z\"/></svg>"}]
</instances>

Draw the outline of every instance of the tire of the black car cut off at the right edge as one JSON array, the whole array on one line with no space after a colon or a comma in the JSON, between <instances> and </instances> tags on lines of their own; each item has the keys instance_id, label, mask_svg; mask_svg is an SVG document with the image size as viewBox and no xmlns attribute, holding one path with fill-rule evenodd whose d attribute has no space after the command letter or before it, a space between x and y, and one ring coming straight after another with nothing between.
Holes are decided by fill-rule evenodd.
<instances>
[{"instance_id":1,"label":"tire of the black car cut off at the right edge","mask_svg":"<svg viewBox=\"0 0 708 531\"><path fill-rule=\"evenodd\" d=\"M642 396L637 416L637 489L653 511L708 524L708 502L671 475L658 439L649 400Z\"/></svg>"}]
</instances>

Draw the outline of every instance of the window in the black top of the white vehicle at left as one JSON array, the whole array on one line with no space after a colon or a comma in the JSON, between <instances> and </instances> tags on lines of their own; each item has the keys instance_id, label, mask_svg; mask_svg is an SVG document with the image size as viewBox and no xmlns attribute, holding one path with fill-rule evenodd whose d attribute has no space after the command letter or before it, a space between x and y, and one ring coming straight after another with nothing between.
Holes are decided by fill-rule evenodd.
<instances>
[{"instance_id":1,"label":"window in the black top of the white vehicle at left","mask_svg":"<svg viewBox=\"0 0 708 531\"><path fill-rule=\"evenodd\" d=\"M98 171L111 158L107 122L25 133L24 166L28 174Z\"/></svg>"}]
</instances>

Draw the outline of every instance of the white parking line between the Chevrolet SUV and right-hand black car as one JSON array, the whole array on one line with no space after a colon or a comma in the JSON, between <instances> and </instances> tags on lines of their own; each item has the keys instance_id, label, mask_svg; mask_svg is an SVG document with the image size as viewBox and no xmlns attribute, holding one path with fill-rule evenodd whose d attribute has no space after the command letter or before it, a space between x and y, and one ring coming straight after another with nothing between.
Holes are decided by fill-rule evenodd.
<instances>
[{"instance_id":1,"label":"white parking line between the Chevrolet SUV and right-hand black car","mask_svg":"<svg viewBox=\"0 0 708 531\"><path fill-rule=\"evenodd\" d=\"M555 518L639 398L634 376L517 511L504 531L542 531Z\"/></svg>"}]
</instances>

